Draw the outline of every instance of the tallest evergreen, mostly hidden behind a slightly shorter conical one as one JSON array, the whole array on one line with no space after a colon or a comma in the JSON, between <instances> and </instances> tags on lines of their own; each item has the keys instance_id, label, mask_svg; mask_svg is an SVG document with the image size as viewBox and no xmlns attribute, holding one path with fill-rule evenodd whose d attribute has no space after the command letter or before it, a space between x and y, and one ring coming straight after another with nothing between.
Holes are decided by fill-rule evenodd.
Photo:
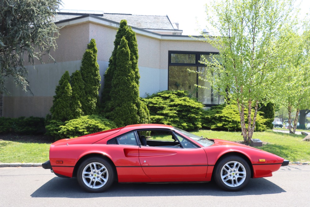
<instances>
[{"instance_id":1,"label":"tallest evergreen, mostly hidden behind a slightly shorter conical one","mask_svg":"<svg viewBox=\"0 0 310 207\"><path fill-rule=\"evenodd\" d=\"M126 20L122 20L120 22L119 29L117 30L115 40L114 40L114 50L109 59L109 65L104 74L104 87L102 90L102 104L106 104L111 100L110 92L112 89L112 80L114 77L114 73L116 70L116 55L117 55L117 47L121 43L122 37L125 36L125 39L128 42L128 48L130 50L130 61L131 68L135 71L135 82L139 85L139 68L138 68L138 44L135 36L135 32L127 25Z\"/></svg>"}]
</instances>

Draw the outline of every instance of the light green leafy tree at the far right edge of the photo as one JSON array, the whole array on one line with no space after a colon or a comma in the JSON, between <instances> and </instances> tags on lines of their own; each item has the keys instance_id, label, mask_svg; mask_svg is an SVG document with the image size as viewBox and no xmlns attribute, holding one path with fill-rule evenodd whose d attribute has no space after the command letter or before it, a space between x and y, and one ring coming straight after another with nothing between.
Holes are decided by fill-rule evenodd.
<instances>
[{"instance_id":1,"label":"light green leafy tree at the far right edge of the photo","mask_svg":"<svg viewBox=\"0 0 310 207\"><path fill-rule=\"evenodd\" d=\"M306 27L306 28L305 28ZM278 101L288 111L290 133L295 133L299 111L310 108L310 27L305 23L302 34L300 28L286 30L284 35L291 41L286 51L289 55L282 65L286 76L281 79L282 89L278 92ZM296 113L293 115L293 110ZM293 122L292 122L293 121Z\"/></svg>"}]
</instances>

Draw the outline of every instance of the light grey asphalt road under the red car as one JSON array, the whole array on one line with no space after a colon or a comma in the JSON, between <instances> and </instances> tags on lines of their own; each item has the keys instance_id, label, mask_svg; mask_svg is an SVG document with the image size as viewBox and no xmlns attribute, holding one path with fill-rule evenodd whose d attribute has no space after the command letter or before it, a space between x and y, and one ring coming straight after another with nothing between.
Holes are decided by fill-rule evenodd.
<instances>
[{"instance_id":1,"label":"light grey asphalt road under the red car","mask_svg":"<svg viewBox=\"0 0 310 207\"><path fill-rule=\"evenodd\" d=\"M251 179L239 192L213 183L115 184L86 193L75 178L41 167L0 168L0 206L310 206L310 165L288 165L272 177Z\"/></svg>"}]
</instances>

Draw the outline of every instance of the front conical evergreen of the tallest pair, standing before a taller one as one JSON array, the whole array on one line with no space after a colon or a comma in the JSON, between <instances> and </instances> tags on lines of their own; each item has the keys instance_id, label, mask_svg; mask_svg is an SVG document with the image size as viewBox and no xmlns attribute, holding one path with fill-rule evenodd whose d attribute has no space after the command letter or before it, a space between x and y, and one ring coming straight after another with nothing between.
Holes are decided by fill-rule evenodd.
<instances>
[{"instance_id":1,"label":"front conical evergreen of the tallest pair, standing before a taller one","mask_svg":"<svg viewBox=\"0 0 310 207\"><path fill-rule=\"evenodd\" d=\"M116 70L112 81L111 101L108 104L108 117L117 126L126 126L138 123L138 85L135 80L135 73L131 70L130 50L125 37L122 38L117 48Z\"/></svg>"}]
</instances>

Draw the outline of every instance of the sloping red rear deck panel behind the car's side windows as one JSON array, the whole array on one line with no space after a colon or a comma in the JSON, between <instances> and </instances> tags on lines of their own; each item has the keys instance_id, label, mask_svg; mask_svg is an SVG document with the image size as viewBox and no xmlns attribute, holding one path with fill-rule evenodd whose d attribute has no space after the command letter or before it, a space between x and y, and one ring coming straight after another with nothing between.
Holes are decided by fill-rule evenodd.
<instances>
[{"instance_id":1,"label":"sloping red rear deck panel behind the car's side windows","mask_svg":"<svg viewBox=\"0 0 310 207\"><path fill-rule=\"evenodd\" d=\"M93 144L99 140L102 140L108 136L115 134L120 131L120 129L112 129L107 131L102 131L90 135L80 136L72 139L62 139L54 142L52 145L85 145Z\"/></svg>"}]
</instances>

